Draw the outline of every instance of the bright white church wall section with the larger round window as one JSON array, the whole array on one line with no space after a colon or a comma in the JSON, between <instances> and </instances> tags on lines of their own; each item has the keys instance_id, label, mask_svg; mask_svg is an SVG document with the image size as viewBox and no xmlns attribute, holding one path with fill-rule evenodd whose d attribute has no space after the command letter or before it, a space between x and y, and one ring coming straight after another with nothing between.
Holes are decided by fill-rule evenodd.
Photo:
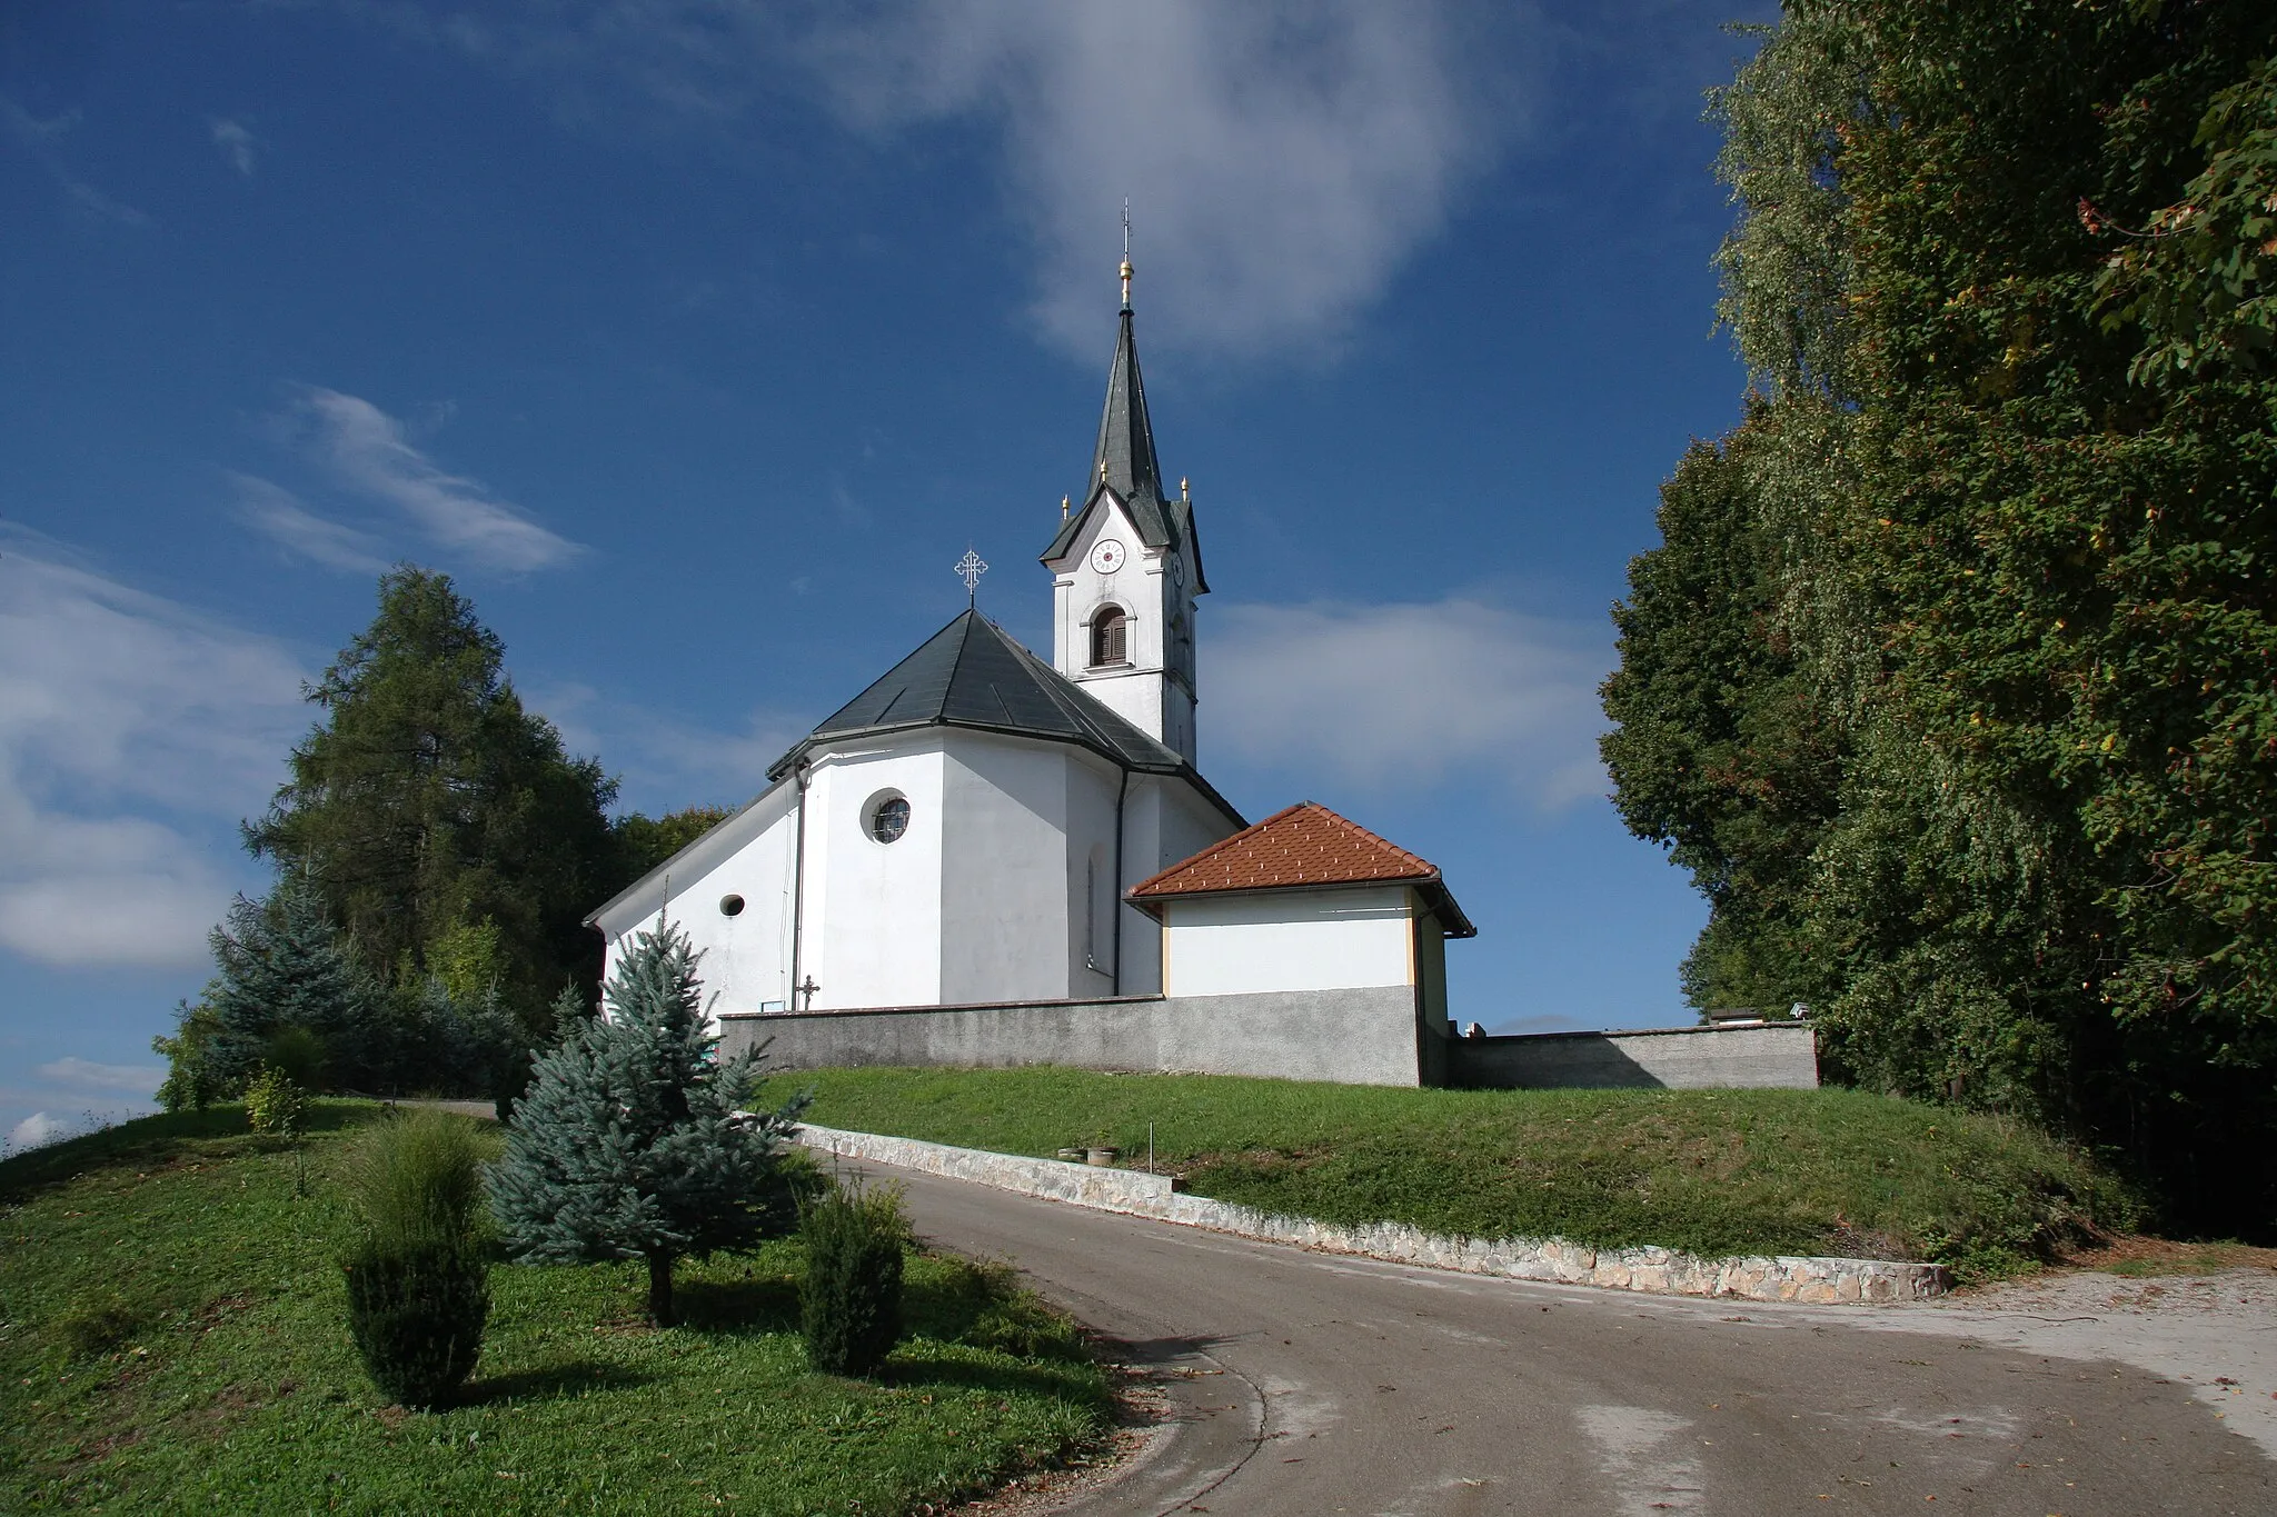
<instances>
[{"instance_id":1,"label":"bright white church wall section with the larger round window","mask_svg":"<svg viewBox=\"0 0 2277 1517\"><path fill-rule=\"evenodd\" d=\"M940 1001L943 766L940 728L815 755L799 964L820 987L815 1010ZM886 794L909 801L909 830L890 844L870 837Z\"/></svg>"}]
</instances>

